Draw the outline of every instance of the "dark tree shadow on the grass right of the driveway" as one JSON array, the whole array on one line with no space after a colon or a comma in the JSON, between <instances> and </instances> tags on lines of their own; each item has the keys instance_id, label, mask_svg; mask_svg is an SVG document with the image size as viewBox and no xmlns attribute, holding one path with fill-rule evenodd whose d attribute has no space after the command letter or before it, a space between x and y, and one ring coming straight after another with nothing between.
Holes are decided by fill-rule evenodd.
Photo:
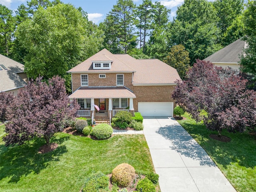
<instances>
[{"instance_id":1,"label":"dark tree shadow on the grass right of the driveway","mask_svg":"<svg viewBox=\"0 0 256 192\"><path fill-rule=\"evenodd\" d=\"M254 136L248 133L230 133L227 130L222 131L222 135L231 138L230 142L222 142L210 138L210 134L218 134L216 131L208 130L201 124L184 123L188 127L188 132L195 135L200 145L208 152L208 154L221 164L224 168L235 162L246 168L254 168L256 166L255 146L256 140Z\"/></svg>"}]
</instances>

